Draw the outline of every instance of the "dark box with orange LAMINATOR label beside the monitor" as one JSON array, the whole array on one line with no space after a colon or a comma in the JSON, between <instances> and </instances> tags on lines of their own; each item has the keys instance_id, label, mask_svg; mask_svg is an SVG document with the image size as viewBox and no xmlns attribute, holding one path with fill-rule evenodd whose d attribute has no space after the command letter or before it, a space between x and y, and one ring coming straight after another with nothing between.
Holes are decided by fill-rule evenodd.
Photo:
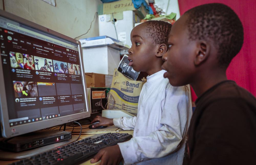
<instances>
[{"instance_id":1,"label":"dark box with orange LAMINATOR label beside the monitor","mask_svg":"<svg viewBox=\"0 0 256 165\"><path fill-rule=\"evenodd\" d=\"M107 94L109 91L110 88L87 88L91 113L101 112L103 110L102 107L106 107L106 103L108 102Z\"/></svg>"}]
</instances>

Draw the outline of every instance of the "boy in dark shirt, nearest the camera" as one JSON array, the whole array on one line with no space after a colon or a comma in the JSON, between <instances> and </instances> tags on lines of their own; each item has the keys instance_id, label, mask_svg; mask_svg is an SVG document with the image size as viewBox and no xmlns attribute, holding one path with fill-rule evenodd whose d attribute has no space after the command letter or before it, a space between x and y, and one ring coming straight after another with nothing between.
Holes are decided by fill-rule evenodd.
<instances>
[{"instance_id":1,"label":"boy in dark shirt, nearest the camera","mask_svg":"<svg viewBox=\"0 0 256 165\"><path fill-rule=\"evenodd\" d=\"M256 99L226 77L242 44L242 23L223 4L188 10L170 31L164 77L199 96L183 164L256 164Z\"/></svg>"}]
</instances>

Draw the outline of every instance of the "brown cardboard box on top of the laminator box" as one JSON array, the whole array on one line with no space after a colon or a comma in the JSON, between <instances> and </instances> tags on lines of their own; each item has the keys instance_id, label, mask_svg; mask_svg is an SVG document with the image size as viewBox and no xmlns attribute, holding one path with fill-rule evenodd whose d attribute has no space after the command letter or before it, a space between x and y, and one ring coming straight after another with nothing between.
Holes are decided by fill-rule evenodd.
<instances>
[{"instance_id":1,"label":"brown cardboard box on top of the laminator box","mask_svg":"<svg viewBox=\"0 0 256 165\"><path fill-rule=\"evenodd\" d=\"M111 87L113 75L85 73L87 87Z\"/></svg>"}]
</instances>

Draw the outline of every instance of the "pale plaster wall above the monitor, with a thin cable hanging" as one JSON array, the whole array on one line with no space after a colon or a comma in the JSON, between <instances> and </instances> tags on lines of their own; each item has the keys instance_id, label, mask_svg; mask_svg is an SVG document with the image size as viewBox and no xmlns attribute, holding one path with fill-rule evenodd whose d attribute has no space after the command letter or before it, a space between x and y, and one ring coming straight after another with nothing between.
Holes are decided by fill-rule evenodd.
<instances>
[{"instance_id":1,"label":"pale plaster wall above the monitor, with a thin cable hanging","mask_svg":"<svg viewBox=\"0 0 256 165\"><path fill-rule=\"evenodd\" d=\"M3 0L1 0L3 1ZM1 3L0 1L0 3ZM90 28L100 0L55 0L52 6L42 0L4 0L5 10L49 29L75 38ZM99 36L98 16L91 30L81 38Z\"/></svg>"}]
</instances>

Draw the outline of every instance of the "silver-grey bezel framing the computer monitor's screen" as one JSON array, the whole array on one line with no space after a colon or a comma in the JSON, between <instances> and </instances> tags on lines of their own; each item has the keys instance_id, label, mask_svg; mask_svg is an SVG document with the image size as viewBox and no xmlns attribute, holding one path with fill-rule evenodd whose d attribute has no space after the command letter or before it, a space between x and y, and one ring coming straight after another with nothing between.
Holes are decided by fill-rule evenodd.
<instances>
[{"instance_id":1,"label":"silver-grey bezel framing the computer monitor's screen","mask_svg":"<svg viewBox=\"0 0 256 165\"><path fill-rule=\"evenodd\" d=\"M2 55L0 56L0 124L1 124L1 133L3 137L13 137L17 135L22 135L25 133L49 128L51 126L56 126L60 124L67 123L68 121L75 121L79 120L82 118L87 118L90 117L90 109L89 109L89 101L88 101L88 94L87 94L87 86L86 86L86 80L85 80L85 75L84 73L84 66L83 66L83 58L82 58L82 48L81 48L81 43L75 39L72 39L71 37L65 36L63 34L60 34L54 30L51 30L49 28L43 27L39 24L36 24L34 22L28 21L26 19L23 19L21 17L18 17L16 15L13 15L9 12L6 12L4 10L0 10L0 16L5 17L7 19L16 21L18 23L24 24L26 26L35 28L37 30L40 30L42 32L49 33L51 35L54 35L56 37L59 37L60 39L67 40L69 42L72 42L74 44L78 45L78 52L79 52L79 60L80 60L80 71L81 71L81 76L82 76L82 83L84 86L84 93L85 93L85 103L86 103L86 112L81 112L81 113L76 113L72 115L67 115L63 117L58 117L58 118L52 118L52 119L47 119L47 120L42 120L42 121L37 121L33 123L26 123L26 124L21 124L21 125L16 125L16 126L10 126L9 124L9 116L8 116L8 106L7 106L7 99L6 99L6 91L5 91L5 85L4 85L4 75L3 75L3 69L2 69Z\"/></svg>"}]
</instances>

